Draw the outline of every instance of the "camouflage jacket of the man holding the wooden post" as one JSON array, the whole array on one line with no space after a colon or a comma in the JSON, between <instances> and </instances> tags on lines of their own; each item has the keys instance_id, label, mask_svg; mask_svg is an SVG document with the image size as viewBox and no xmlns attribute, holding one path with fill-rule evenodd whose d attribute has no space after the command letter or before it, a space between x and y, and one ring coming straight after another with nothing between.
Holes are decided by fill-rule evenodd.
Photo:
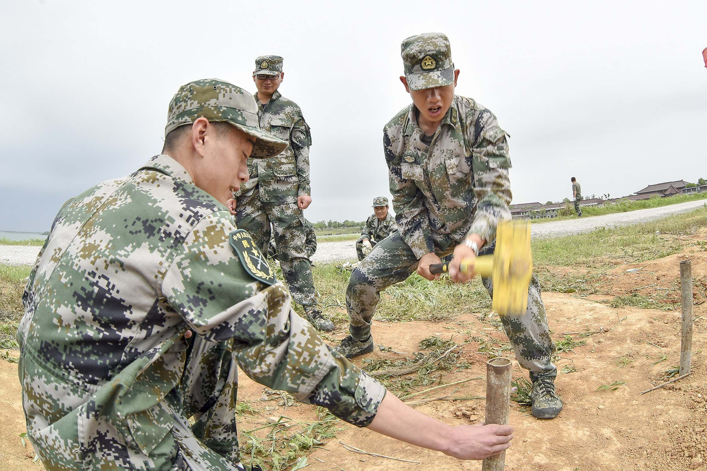
<instances>
[{"instance_id":1,"label":"camouflage jacket of the man holding the wooden post","mask_svg":"<svg viewBox=\"0 0 707 471\"><path fill-rule=\"evenodd\" d=\"M28 437L47 470L170 469L165 395L185 369L187 328L233 342L255 381L371 422L385 388L292 311L262 255L237 250L250 236L232 221L168 155L59 210L17 334Z\"/></svg>"}]
</instances>

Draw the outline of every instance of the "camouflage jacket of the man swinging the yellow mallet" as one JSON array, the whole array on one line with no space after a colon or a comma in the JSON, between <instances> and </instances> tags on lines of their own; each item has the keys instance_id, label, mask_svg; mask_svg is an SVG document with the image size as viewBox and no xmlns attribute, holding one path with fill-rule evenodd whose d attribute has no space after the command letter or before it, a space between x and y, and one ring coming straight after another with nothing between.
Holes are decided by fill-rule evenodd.
<instances>
[{"instance_id":1,"label":"camouflage jacket of the man swinging the yellow mallet","mask_svg":"<svg viewBox=\"0 0 707 471\"><path fill-rule=\"evenodd\" d=\"M491 242L510 219L506 132L488 109L455 95L431 145L421 141L414 105L383 129L383 148L402 238L421 258L476 233Z\"/></svg>"}]
</instances>

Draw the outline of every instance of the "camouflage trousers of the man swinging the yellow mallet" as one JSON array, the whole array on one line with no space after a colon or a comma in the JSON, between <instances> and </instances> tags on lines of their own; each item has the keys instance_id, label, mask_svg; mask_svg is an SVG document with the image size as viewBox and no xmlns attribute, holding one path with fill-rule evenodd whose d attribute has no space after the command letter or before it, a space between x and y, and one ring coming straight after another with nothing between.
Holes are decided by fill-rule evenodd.
<instances>
[{"instance_id":1,"label":"camouflage trousers of the man swinging the yellow mallet","mask_svg":"<svg viewBox=\"0 0 707 471\"><path fill-rule=\"evenodd\" d=\"M447 256L453 251L454 243L444 250L438 246L435 248L438 256ZM493 254L493 249L493 244L484 247L479 255ZM358 340L368 338L380 292L406 280L417 269L417 263L416 256L397 232L383 239L363 259L361 265L351 273L349 287L346 288L346 310L349 311L349 332L352 337ZM482 278L481 281L493 296L493 281L490 278ZM501 323L520 366L530 370L533 377L554 378L557 372L552 363L555 344L550 338L545 306L540 297L540 284L535 275L528 287L526 311L501 316Z\"/></svg>"}]
</instances>

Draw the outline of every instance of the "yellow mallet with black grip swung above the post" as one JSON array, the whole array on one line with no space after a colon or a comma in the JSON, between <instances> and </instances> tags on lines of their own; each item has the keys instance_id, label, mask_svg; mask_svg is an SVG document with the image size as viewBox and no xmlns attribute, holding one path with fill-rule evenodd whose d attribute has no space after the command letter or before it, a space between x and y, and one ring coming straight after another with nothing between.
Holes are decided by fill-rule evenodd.
<instances>
[{"instance_id":1,"label":"yellow mallet with black grip swung above the post","mask_svg":"<svg viewBox=\"0 0 707 471\"><path fill-rule=\"evenodd\" d=\"M493 310L498 314L523 314L527 309L528 285L532 278L530 224L503 221L496 229L493 255L462 260L462 273L474 273L493 280ZM448 273L449 263L430 266L431 273Z\"/></svg>"}]
</instances>

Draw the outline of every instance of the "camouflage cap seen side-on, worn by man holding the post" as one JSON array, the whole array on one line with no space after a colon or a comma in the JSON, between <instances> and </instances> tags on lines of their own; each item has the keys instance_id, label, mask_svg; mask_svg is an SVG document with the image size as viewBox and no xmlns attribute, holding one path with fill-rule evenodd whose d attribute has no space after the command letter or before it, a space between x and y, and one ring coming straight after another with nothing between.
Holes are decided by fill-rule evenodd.
<instances>
[{"instance_id":1,"label":"camouflage cap seen side-on, worn by man holding the post","mask_svg":"<svg viewBox=\"0 0 707 471\"><path fill-rule=\"evenodd\" d=\"M170 101L165 136L201 117L226 121L255 137L250 157L274 157L287 148L288 143L260 129L255 98L232 83L204 78L182 85Z\"/></svg>"}]
</instances>

